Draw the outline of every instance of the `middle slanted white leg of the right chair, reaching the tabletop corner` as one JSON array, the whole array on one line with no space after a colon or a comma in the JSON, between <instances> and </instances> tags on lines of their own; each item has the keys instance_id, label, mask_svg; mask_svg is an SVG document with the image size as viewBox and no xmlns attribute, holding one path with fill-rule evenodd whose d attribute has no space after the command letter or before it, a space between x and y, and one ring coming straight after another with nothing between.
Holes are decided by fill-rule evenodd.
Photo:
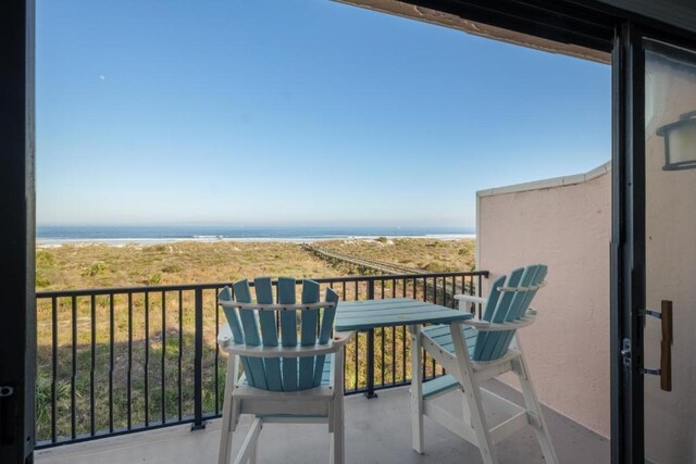
<instances>
[{"instance_id":1,"label":"middle slanted white leg of the right chair, reaching the tabletop corner","mask_svg":"<svg viewBox=\"0 0 696 464\"><path fill-rule=\"evenodd\" d=\"M450 324L450 330L452 335L452 342L455 344L455 354L457 355L457 362L460 371L460 381L464 389L464 398L469 405L469 414L471 414L471 425L476 434L476 441L478 442L478 451L481 451L481 457L485 464L497 464L498 457L496 454L493 440L490 439L490 430L486 417L483 413L483 402L481 399L481 386L474 373L469 368L469 350L467 343L462 337L461 326L457 323ZM467 417L464 417L467 418Z\"/></svg>"}]
</instances>

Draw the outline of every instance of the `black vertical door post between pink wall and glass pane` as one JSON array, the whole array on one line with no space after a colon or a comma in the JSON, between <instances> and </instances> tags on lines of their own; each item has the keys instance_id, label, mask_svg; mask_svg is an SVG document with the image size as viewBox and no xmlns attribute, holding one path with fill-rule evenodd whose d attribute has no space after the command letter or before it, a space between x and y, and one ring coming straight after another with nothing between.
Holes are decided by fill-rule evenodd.
<instances>
[{"instance_id":1,"label":"black vertical door post between pink wall and glass pane","mask_svg":"<svg viewBox=\"0 0 696 464\"><path fill-rule=\"evenodd\" d=\"M612 51L611 462L644 462L645 76L641 33L617 27ZM629 340L631 346L624 344ZM626 351L630 350L630 351ZM624 361L625 360L625 361Z\"/></svg>"}]
</instances>

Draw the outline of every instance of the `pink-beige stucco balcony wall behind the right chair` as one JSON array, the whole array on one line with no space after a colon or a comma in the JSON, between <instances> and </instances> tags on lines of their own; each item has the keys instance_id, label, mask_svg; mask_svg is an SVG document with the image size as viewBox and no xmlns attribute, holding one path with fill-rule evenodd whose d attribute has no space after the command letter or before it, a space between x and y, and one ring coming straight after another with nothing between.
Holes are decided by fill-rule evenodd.
<instances>
[{"instance_id":1,"label":"pink-beige stucco balcony wall behind the right chair","mask_svg":"<svg viewBox=\"0 0 696 464\"><path fill-rule=\"evenodd\" d=\"M531 263L549 267L533 302L537 323L520 333L539 400L608 437L609 166L481 191L477 204L477 266L488 281Z\"/></svg>"}]
</instances>

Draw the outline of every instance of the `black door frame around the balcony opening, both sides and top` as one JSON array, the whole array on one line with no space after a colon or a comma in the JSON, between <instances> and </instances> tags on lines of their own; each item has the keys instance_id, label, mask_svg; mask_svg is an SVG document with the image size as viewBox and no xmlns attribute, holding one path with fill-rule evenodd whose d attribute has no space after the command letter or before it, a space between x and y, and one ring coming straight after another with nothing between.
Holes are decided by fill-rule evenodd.
<instances>
[{"instance_id":1,"label":"black door frame around the balcony opening, both sides and top","mask_svg":"<svg viewBox=\"0 0 696 464\"><path fill-rule=\"evenodd\" d=\"M0 386L16 385L14 394L0 400L0 461L33 462L35 321L35 204L34 204L34 37L35 0L0 2L0 202L5 227L0 228L3 264L13 269L3 283L3 324ZM350 2L350 0L346 0ZM643 456L643 326L636 316L644 299L645 183L643 61L638 25L652 27L650 37L696 46L696 34L656 20L625 12L596 0L403 0L423 8L494 27L557 40L598 43L598 27L616 27L612 91L612 243L611 243L611 424L612 462L635 462ZM369 2L365 2L369 3ZM387 3L387 2L383 2ZM571 21L581 18L581 21ZM667 35L671 34L668 38ZM595 45L598 47L597 45ZM636 104L637 103L637 104ZM643 150L641 150L643 148ZM643 253L643 254L642 254ZM633 338L633 356L624 368L621 340ZM9 413L12 419L4 419ZM9 435L8 435L9 434Z\"/></svg>"}]
</instances>

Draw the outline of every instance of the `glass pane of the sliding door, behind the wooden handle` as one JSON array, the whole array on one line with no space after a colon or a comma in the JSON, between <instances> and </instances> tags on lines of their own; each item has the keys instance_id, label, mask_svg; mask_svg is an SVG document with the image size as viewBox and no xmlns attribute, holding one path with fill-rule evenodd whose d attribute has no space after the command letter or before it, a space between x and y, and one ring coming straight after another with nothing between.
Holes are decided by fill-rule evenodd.
<instances>
[{"instance_id":1,"label":"glass pane of the sliding door, behind the wooden handle","mask_svg":"<svg viewBox=\"0 0 696 464\"><path fill-rule=\"evenodd\" d=\"M696 54L646 41L646 304L673 302L672 391L646 375L645 452L696 462ZM660 366L661 321L646 317L645 366Z\"/></svg>"}]
</instances>

